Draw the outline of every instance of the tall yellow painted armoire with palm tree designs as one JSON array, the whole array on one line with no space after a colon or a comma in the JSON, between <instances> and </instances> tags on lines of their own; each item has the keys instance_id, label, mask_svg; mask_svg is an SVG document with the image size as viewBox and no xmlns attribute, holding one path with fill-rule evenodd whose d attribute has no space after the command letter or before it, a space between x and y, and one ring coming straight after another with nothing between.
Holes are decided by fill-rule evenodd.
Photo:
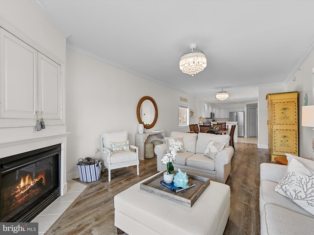
<instances>
[{"instance_id":1,"label":"tall yellow painted armoire with palm tree designs","mask_svg":"<svg viewBox=\"0 0 314 235\"><path fill-rule=\"evenodd\" d=\"M266 100L271 161L285 153L298 156L298 92L267 94Z\"/></svg>"}]
</instances>

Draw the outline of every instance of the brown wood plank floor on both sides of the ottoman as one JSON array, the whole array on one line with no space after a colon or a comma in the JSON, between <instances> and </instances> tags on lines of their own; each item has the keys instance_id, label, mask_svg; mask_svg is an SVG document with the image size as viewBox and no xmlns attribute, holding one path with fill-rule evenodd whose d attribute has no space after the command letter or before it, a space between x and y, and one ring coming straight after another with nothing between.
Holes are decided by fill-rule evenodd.
<instances>
[{"instance_id":1,"label":"brown wood plank floor on both sides of the ottoman","mask_svg":"<svg viewBox=\"0 0 314 235\"><path fill-rule=\"evenodd\" d=\"M224 235L259 235L260 164L270 162L267 149L257 144L235 143L231 172L226 182L231 187L231 212ZM156 157L140 161L136 167L107 171L101 179L85 183L88 187L47 231L46 235L115 235L113 197L131 185L157 173Z\"/></svg>"}]
</instances>

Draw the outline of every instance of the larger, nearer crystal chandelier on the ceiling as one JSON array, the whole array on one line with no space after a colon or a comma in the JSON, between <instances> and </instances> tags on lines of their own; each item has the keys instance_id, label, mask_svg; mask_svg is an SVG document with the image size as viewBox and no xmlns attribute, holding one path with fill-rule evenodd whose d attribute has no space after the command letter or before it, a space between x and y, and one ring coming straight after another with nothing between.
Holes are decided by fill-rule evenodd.
<instances>
[{"instance_id":1,"label":"larger, nearer crystal chandelier on the ceiling","mask_svg":"<svg viewBox=\"0 0 314 235\"><path fill-rule=\"evenodd\" d=\"M207 59L203 51L196 49L196 44L190 44L190 49L181 56L179 65L183 73L194 76L205 69Z\"/></svg>"}]
</instances>

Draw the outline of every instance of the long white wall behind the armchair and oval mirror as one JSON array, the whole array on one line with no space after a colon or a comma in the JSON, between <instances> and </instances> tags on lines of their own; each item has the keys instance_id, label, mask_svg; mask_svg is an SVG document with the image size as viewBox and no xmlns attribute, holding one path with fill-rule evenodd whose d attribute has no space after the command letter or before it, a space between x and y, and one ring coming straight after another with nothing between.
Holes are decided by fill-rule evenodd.
<instances>
[{"instance_id":1,"label":"long white wall behind the armchair and oval mirror","mask_svg":"<svg viewBox=\"0 0 314 235\"><path fill-rule=\"evenodd\" d=\"M129 71L67 50L67 179L77 178L79 158L93 157L100 148L100 133L126 130L130 144L135 144L138 120L136 107L143 96L151 96L158 107L158 119L153 129L189 131L178 127L180 96L188 98L194 109L194 98ZM197 118L197 117L195 117ZM194 119L195 119L194 118ZM191 119L193 121L193 119ZM150 131L150 130L148 130Z\"/></svg>"}]
</instances>

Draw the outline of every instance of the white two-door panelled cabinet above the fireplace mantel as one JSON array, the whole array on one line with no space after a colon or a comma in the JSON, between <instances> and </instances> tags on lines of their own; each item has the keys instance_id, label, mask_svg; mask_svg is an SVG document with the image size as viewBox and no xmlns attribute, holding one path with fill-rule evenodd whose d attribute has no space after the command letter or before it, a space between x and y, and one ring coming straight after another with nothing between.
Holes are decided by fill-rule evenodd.
<instances>
[{"instance_id":1,"label":"white two-door panelled cabinet above the fireplace mantel","mask_svg":"<svg viewBox=\"0 0 314 235\"><path fill-rule=\"evenodd\" d=\"M0 28L0 118L61 119L60 68Z\"/></svg>"}]
</instances>

